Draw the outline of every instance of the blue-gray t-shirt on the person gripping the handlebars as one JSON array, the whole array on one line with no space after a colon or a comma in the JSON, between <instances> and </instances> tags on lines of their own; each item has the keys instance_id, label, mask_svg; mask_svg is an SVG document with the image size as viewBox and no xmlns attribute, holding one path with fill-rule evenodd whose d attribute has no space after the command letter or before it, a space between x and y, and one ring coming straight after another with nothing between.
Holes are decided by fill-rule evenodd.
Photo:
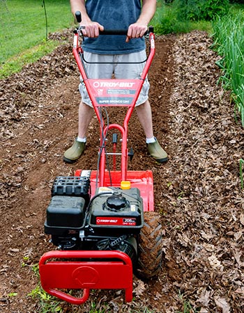
<instances>
[{"instance_id":1,"label":"blue-gray t-shirt on the person gripping the handlebars","mask_svg":"<svg viewBox=\"0 0 244 313\"><path fill-rule=\"evenodd\" d=\"M140 0L86 0L86 11L93 22L105 29L127 30L137 21L141 13ZM98 38L85 38L84 51L96 54L128 54L145 49L144 38L125 42L125 35L100 35Z\"/></svg>"}]
</instances>

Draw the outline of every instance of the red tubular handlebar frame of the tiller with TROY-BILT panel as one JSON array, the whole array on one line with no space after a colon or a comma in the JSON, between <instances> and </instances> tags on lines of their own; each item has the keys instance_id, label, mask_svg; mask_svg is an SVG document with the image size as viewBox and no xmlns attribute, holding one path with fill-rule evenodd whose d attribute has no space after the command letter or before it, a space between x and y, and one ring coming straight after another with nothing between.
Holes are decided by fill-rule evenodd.
<instances>
[{"instance_id":1,"label":"red tubular handlebar frame of the tiller with TROY-BILT panel","mask_svg":"<svg viewBox=\"0 0 244 313\"><path fill-rule=\"evenodd\" d=\"M151 66L151 63L153 61L153 56L155 55L155 36L154 33L149 33L149 42L150 42L150 49L149 54L146 59L144 70L142 71L141 77L139 79L127 79L127 80L102 80L102 79L89 79L86 75L86 70L84 68L84 61L82 60L82 47L79 44L79 33L80 31L77 31L74 35L74 46L73 46L73 54L75 56L75 61L77 62L77 66L79 68L79 72L82 75L82 80L84 81L84 84L86 86L86 90L89 94L89 97L91 99L91 103L93 104L93 109L96 112L97 118L100 121L100 140L101 140L101 147L104 145L102 143L102 138L106 137L107 130L108 129L118 129L121 132L121 139L122 139L122 145L121 145L121 181L127 180L127 167L128 167L128 148L127 148L127 134L128 134L128 123L131 118L133 109L135 108L135 104L137 102L137 99L139 97L139 93L142 90L142 86L144 83L144 80L146 79L146 76L148 74L149 67ZM115 82L112 82L115 81ZM100 88L99 86L102 86ZM130 91L130 87L133 86L134 90ZM107 89L106 89L107 88ZM107 91L109 89L109 92ZM130 97L128 96L128 102L124 102L121 104L121 102L112 102L112 99L116 99L116 97L123 101L123 90L125 92L130 93ZM101 99L99 92L107 93L106 97L103 96L102 99L104 99L104 102L98 101ZM108 95L109 93L109 95ZM116 95L117 93L117 95ZM109 98L110 97L110 98ZM127 95L125 94L125 97ZM102 120L102 116L100 115L99 108L101 106L127 106L128 111L125 115L125 120L123 121L123 126L118 124L112 124L108 127L105 126L105 122ZM100 166L99 166L99 185L105 186L105 150L100 150L101 157L100 157Z\"/></svg>"}]
</instances>

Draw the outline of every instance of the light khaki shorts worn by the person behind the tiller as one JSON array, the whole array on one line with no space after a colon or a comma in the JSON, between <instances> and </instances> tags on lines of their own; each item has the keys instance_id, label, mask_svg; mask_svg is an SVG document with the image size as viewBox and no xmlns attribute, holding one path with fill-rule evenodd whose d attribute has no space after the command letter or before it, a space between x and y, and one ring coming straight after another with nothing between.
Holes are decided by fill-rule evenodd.
<instances>
[{"instance_id":1,"label":"light khaki shorts worn by the person behind the tiller","mask_svg":"<svg viewBox=\"0 0 244 313\"><path fill-rule=\"evenodd\" d=\"M84 51L84 60L87 62L106 62L106 64L84 63L86 74L89 79L111 79L112 75L116 79L139 79L144 69L145 63L126 64L128 62L141 62L146 60L146 51L139 51L132 54L93 54ZM112 64L115 63L115 64ZM118 62L118 63L116 63ZM119 62L124 62L119 64ZM86 86L80 77L79 93L82 95L82 102L92 106ZM136 106L143 104L148 99L150 84L146 77L141 93L137 99Z\"/></svg>"}]
</instances>

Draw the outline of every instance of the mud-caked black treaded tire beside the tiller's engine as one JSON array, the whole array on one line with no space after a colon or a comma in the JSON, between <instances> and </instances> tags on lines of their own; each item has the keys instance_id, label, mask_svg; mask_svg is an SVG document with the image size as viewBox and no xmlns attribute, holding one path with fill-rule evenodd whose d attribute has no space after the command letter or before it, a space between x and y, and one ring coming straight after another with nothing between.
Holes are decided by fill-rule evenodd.
<instances>
[{"instance_id":1,"label":"mud-caked black treaded tire beside the tiller's engine","mask_svg":"<svg viewBox=\"0 0 244 313\"><path fill-rule=\"evenodd\" d=\"M144 226L139 234L137 276L152 279L162 264L162 225L158 212L144 212Z\"/></svg>"}]
</instances>

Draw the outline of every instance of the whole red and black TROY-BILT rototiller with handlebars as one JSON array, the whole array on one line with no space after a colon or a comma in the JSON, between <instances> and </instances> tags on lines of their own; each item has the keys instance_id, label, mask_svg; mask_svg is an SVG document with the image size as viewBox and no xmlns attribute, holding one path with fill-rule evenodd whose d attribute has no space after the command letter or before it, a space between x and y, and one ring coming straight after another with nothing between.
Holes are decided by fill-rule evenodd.
<instances>
[{"instance_id":1,"label":"whole red and black TROY-BILT rototiller with handlebars","mask_svg":"<svg viewBox=\"0 0 244 313\"><path fill-rule=\"evenodd\" d=\"M80 22L80 13L76 16ZM155 37L150 28L150 48L141 77L126 80L89 79L81 37L79 27L74 31L73 54L100 122L98 169L76 170L73 177L54 180L45 234L59 250L41 257L40 281L48 294L76 305L89 298L91 289L125 289L125 300L130 302L133 272L153 278L162 262L162 227L160 215L154 212L153 175L151 170L128 170L133 152L127 147L128 122L155 54ZM123 125L109 124L110 106L125 107ZM118 134L111 136L112 129L121 136L121 152L116 152ZM120 170L116 170L117 157L121 158ZM72 289L83 289L82 297L71 295Z\"/></svg>"}]
</instances>

